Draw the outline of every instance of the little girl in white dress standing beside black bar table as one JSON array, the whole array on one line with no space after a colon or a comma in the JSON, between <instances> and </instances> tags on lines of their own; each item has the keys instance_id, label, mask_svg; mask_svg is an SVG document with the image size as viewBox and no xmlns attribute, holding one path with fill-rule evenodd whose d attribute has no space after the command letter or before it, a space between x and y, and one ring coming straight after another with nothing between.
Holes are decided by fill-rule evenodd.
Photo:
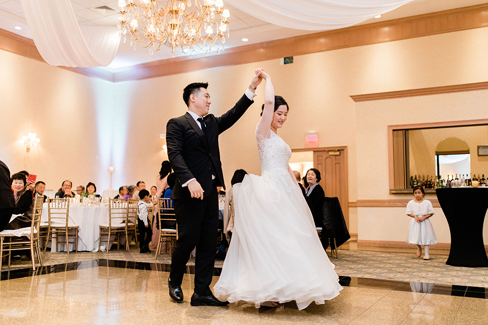
<instances>
[{"instance_id":1,"label":"little girl in white dress standing beside black bar table","mask_svg":"<svg viewBox=\"0 0 488 325\"><path fill-rule=\"evenodd\" d=\"M425 254L423 259L430 259L429 245L437 244L437 238L434 227L429 220L434 214L434 208L429 200L423 199L424 194L422 186L415 186L413 188L415 200L411 200L407 204L406 213L413 218L410 221L407 243L417 245L418 257L422 254L422 246L420 245L424 245Z\"/></svg>"}]
</instances>

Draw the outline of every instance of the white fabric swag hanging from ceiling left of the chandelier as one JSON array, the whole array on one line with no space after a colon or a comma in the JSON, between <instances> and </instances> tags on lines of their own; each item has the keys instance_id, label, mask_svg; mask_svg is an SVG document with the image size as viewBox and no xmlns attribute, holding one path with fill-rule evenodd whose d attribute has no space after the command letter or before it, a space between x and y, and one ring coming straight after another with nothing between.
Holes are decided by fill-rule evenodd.
<instances>
[{"instance_id":1,"label":"white fabric swag hanging from ceiling left of the chandelier","mask_svg":"<svg viewBox=\"0 0 488 325\"><path fill-rule=\"evenodd\" d=\"M70 0L22 0L22 8L34 43L51 66L105 67L115 57L118 28L79 26Z\"/></svg>"}]
</instances>

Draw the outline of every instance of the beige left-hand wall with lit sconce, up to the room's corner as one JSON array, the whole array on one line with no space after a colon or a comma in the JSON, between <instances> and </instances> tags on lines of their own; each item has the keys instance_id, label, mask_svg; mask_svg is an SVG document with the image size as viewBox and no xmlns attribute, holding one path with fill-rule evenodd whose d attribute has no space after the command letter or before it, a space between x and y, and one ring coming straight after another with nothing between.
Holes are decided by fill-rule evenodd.
<instances>
[{"instance_id":1,"label":"beige left-hand wall with lit sconce, up to the room's corner","mask_svg":"<svg viewBox=\"0 0 488 325\"><path fill-rule=\"evenodd\" d=\"M57 190L64 179L108 187L103 159L110 159L112 89L108 82L0 51L0 159L11 173L37 174L48 189ZM99 134L102 129L109 138ZM27 153L22 136L33 131L41 143Z\"/></svg>"}]
</instances>

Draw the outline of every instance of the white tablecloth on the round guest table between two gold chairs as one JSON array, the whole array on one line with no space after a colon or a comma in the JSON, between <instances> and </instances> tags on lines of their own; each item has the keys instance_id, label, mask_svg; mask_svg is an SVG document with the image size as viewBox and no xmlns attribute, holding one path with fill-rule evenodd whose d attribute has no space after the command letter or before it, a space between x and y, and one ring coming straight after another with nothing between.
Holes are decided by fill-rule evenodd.
<instances>
[{"instance_id":1,"label":"white tablecloth on the round guest table between two gold chairs","mask_svg":"<svg viewBox=\"0 0 488 325\"><path fill-rule=\"evenodd\" d=\"M46 203L42 207L41 221L49 221ZM108 223L108 206L70 206L69 223L80 226L78 228L78 250L98 251L100 224ZM54 245L51 246L51 250L54 251ZM66 251L64 246L59 244L58 250Z\"/></svg>"}]
</instances>

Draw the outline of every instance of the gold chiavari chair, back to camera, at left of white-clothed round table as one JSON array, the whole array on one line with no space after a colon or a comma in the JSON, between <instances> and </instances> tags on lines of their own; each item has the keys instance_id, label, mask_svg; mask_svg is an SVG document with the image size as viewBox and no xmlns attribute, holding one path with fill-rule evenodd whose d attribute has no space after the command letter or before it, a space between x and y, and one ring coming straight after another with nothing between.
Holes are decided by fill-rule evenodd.
<instances>
[{"instance_id":1,"label":"gold chiavari chair, back to camera, at left of white-clothed round table","mask_svg":"<svg viewBox=\"0 0 488 325\"><path fill-rule=\"evenodd\" d=\"M70 224L69 214L70 214L70 199L47 199L47 207L49 213L49 228L48 228L48 238L44 246L44 252L46 252L47 243L49 239L52 243L52 238L54 234L56 235L56 247L59 245L60 235L65 237L66 251L70 253L70 239L72 244L75 245L75 252L78 252L78 224Z\"/></svg>"}]
</instances>

